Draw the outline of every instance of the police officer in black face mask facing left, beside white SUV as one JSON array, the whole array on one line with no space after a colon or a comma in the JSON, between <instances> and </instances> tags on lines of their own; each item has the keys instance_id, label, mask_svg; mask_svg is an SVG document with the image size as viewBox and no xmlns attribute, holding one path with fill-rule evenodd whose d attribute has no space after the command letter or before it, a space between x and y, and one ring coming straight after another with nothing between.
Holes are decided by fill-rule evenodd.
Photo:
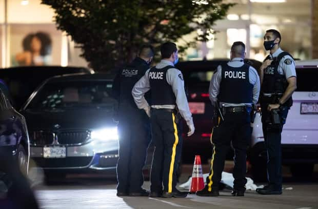
<instances>
[{"instance_id":1,"label":"police officer in black face mask facing left, beside white SUV","mask_svg":"<svg viewBox=\"0 0 318 209\"><path fill-rule=\"evenodd\" d=\"M262 124L267 148L268 185L256 189L259 194L282 194L282 152L281 132L292 105L291 95L296 89L296 70L292 56L280 48L281 34L277 30L267 30L264 47L270 51L259 69L262 92ZM273 114L279 116L278 123Z\"/></svg>"}]
</instances>

